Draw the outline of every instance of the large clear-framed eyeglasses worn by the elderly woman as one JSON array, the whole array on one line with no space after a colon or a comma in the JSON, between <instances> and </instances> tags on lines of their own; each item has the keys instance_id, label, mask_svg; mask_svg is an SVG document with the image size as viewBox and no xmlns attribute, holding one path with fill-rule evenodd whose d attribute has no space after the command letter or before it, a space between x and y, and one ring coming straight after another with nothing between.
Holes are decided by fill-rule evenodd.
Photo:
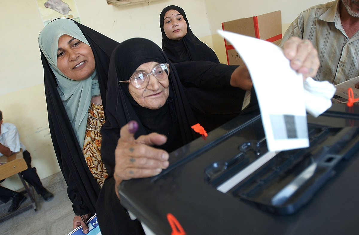
<instances>
[{"instance_id":1,"label":"large clear-framed eyeglasses worn by the elderly woman","mask_svg":"<svg viewBox=\"0 0 359 235\"><path fill-rule=\"evenodd\" d=\"M152 72L150 73L146 73L146 72L136 73L132 75L128 81L119 81L119 82L128 82L128 83L131 82L132 85L137 89L143 89L148 85L150 81L149 79L150 75L155 76L158 80L165 79L169 75L169 64L167 63L158 64L152 69Z\"/></svg>"}]
</instances>

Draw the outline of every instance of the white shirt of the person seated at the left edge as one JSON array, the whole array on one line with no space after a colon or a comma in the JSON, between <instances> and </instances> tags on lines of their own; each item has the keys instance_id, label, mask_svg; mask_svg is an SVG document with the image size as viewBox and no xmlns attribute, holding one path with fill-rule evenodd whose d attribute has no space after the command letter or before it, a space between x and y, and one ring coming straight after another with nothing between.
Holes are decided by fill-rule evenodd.
<instances>
[{"instance_id":1,"label":"white shirt of the person seated at the left edge","mask_svg":"<svg viewBox=\"0 0 359 235\"><path fill-rule=\"evenodd\" d=\"M20 134L14 124L3 123L0 130L0 143L8 147L11 152L16 153L22 148L23 152L26 150L25 145L20 142ZM0 153L0 157L4 154Z\"/></svg>"}]
</instances>

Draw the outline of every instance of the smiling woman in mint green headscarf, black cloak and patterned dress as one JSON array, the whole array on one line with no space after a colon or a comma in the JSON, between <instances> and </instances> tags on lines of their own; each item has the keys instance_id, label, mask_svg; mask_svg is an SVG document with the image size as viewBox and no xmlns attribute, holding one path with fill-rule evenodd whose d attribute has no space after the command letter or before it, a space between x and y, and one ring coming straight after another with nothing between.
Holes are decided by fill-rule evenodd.
<instances>
[{"instance_id":1,"label":"smiling woman in mint green headscarf, black cloak and patterned dress","mask_svg":"<svg viewBox=\"0 0 359 235\"><path fill-rule=\"evenodd\" d=\"M51 138L73 203L73 227L82 225L85 234L107 177L100 154L102 103L118 44L65 18L51 21L39 35Z\"/></svg>"}]
</instances>

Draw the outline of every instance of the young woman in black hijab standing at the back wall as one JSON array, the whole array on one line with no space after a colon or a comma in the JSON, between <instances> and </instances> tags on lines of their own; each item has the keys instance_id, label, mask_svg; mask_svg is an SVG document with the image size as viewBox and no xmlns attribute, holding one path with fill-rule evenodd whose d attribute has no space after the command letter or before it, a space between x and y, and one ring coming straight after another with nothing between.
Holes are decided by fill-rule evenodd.
<instances>
[{"instance_id":1,"label":"young woman in black hijab standing at the back wall","mask_svg":"<svg viewBox=\"0 0 359 235\"><path fill-rule=\"evenodd\" d=\"M162 49L171 62L219 63L214 51L192 33L182 8L178 6L164 8L159 17L159 24L162 32Z\"/></svg>"}]
</instances>

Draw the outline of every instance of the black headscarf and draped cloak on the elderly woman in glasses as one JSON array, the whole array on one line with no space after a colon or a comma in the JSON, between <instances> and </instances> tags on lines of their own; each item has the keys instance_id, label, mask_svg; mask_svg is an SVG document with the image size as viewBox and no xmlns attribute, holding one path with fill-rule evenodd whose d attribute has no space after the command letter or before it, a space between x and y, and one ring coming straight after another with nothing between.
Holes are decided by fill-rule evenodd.
<instances>
[{"instance_id":1,"label":"black headscarf and draped cloak on the elderly woman in glasses","mask_svg":"<svg viewBox=\"0 0 359 235\"><path fill-rule=\"evenodd\" d=\"M157 110L141 107L129 94L127 83L132 73L146 62L169 64L169 97L166 104ZM153 42L144 38L133 38L122 42L112 53L107 87L106 123L101 128L101 158L108 177L104 181L97 202L97 218L104 235L141 234L136 222L132 222L115 193L115 148L120 129L131 120L139 123L139 135L156 131L168 135L168 143L159 148L171 151L199 137L191 129L196 124L195 116L186 99L176 68L163 51ZM168 125L168 126L166 126ZM175 140L178 140L177 143Z\"/></svg>"}]
</instances>

